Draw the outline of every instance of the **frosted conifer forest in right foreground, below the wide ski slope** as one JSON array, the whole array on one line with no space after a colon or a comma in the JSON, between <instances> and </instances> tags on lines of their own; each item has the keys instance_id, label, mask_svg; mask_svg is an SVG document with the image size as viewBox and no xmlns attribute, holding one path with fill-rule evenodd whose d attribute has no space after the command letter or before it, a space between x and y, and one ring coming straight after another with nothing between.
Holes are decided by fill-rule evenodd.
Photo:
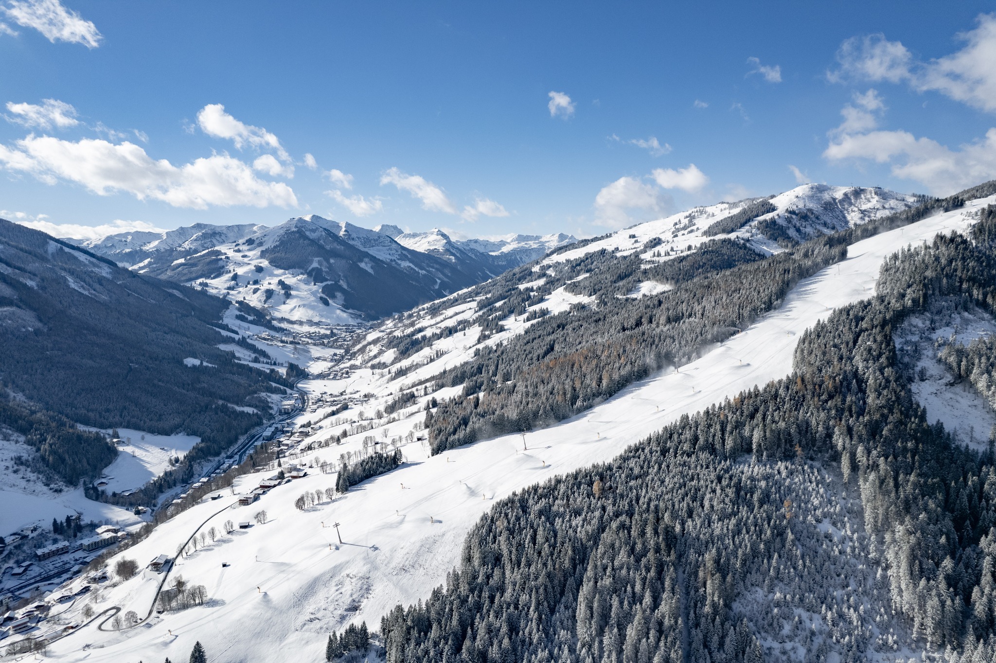
<instances>
[{"instance_id":1,"label":"frosted conifer forest in right foreground, below the wide ski slope","mask_svg":"<svg viewBox=\"0 0 996 663\"><path fill-rule=\"evenodd\" d=\"M902 637L996 659L992 447L927 422L892 336L935 298L996 310L992 225L888 260L787 378L496 505L447 586L383 619L387 660L862 661Z\"/></svg>"}]
</instances>

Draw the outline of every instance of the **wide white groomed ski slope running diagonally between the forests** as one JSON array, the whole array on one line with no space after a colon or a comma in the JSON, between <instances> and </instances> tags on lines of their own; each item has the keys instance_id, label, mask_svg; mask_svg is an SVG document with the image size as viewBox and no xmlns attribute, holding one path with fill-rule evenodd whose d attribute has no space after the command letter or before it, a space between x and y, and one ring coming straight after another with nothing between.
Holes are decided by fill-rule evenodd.
<instances>
[{"instance_id":1,"label":"wide white groomed ski slope running diagonally between the forests","mask_svg":"<svg viewBox=\"0 0 996 663\"><path fill-rule=\"evenodd\" d=\"M381 615L395 604L416 602L443 584L459 561L468 531L495 501L537 482L611 460L682 414L785 376L792 369L794 348L803 331L834 309L871 296L886 256L929 241L937 233L964 231L977 210L994 201L996 196L970 201L962 209L852 245L847 260L801 282L779 310L699 359L634 383L584 414L525 438L507 435L432 457L417 441L404 444L402 466L346 495L322 497L304 511L295 508L298 496L335 486L335 474L322 474L314 466L321 460L336 464L343 451L359 450L362 433L351 435L342 446L301 456L297 465L313 466L307 476L270 490L250 506L238 507L238 494L248 493L275 472L243 476L219 500L205 500L181 513L109 562L113 568L120 557L127 557L143 567L156 555L174 556L195 532L211 527L223 532L226 521L250 523L176 559L170 583L181 575L189 584L204 585L208 599L203 605L163 614L153 611L147 621L121 631L99 630L103 619L97 620L55 641L38 660L185 660L198 640L209 660L218 663L323 660L330 631L362 620L375 629ZM451 354L447 360L458 358ZM383 372L357 369L346 381L311 380L301 386L313 393L370 391L376 399L386 400L398 385L388 382ZM404 378L412 380L412 373ZM388 424L390 436L403 435L420 421L422 405L419 401L405 408L399 420ZM321 412L303 413L297 419L301 423L320 416ZM314 437L331 435L332 421L326 420ZM334 427L339 431L343 426ZM380 429L369 433L380 437ZM267 513L263 524L254 520L260 511ZM83 621L80 614L88 601L98 613L117 606L122 614L132 610L144 617L160 579L160 574L145 569L124 582L105 583L76 599L63 619ZM69 588L82 582L77 579Z\"/></svg>"}]
</instances>

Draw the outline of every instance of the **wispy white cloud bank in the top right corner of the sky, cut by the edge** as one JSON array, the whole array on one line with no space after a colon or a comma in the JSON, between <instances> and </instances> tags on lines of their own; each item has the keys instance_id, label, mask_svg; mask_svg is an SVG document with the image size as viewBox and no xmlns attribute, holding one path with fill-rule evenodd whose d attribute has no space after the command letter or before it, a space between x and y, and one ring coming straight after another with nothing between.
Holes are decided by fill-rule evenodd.
<instances>
[{"instance_id":1,"label":"wispy white cloud bank in the top right corner of the sky, cut by the edge","mask_svg":"<svg viewBox=\"0 0 996 663\"><path fill-rule=\"evenodd\" d=\"M900 42L882 34L853 37L837 53L841 69L832 81L848 78L906 83L913 90L938 92L976 109L996 111L996 15L982 14L978 27L959 33L964 48L943 58L919 62Z\"/></svg>"}]
</instances>

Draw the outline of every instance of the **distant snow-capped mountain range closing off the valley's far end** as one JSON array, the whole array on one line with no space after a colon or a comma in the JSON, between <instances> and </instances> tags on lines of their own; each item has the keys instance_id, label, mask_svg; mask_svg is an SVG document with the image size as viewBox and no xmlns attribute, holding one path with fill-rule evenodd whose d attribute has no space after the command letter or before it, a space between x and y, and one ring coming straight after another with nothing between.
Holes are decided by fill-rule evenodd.
<instances>
[{"instance_id":1,"label":"distant snow-capped mountain range closing off the valley's far end","mask_svg":"<svg viewBox=\"0 0 996 663\"><path fill-rule=\"evenodd\" d=\"M318 215L261 225L196 224L74 242L133 272L229 293L288 320L376 320L445 297L577 240L453 240L433 229L370 230Z\"/></svg>"}]
</instances>

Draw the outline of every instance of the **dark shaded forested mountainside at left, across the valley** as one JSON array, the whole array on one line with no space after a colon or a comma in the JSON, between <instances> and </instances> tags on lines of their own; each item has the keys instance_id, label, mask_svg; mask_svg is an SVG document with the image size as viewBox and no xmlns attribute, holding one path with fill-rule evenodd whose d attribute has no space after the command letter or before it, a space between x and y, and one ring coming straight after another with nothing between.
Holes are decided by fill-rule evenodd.
<instances>
[{"instance_id":1,"label":"dark shaded forested mountainside at left, across the valley","mask_svg":"<svg viewBox=\"0 0 996 663\"><path fill-rule=\"evenodd\" d=\"M70 484L115 450L69 422L200 436L188 464L219 453L285 382L216 347L228 307L0 220L0 424Z\"/></svg>"}]
</instances>

